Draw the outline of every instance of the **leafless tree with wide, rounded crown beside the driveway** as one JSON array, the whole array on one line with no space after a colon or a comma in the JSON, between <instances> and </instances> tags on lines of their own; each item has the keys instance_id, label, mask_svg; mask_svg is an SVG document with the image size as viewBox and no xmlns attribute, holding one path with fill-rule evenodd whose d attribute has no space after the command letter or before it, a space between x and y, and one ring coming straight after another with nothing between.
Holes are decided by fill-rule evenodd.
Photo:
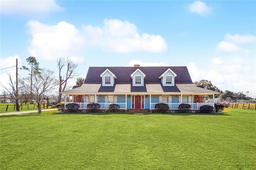
<instances>
[{"instance_id":1,"label":"leafless tree with wide, rounded crown beside the driveway","mask_svg":"<svg viewBox=\"0 0 256 170\"><path fill-rule=\"evenodd\" d=\"M40 73L32 75L32 100L38 107L38 113L41 113L41 103L46 93L50 93L54 87L58 85L58 80L53 76L54 71L48 69L40 69ZM30 92L30 77L24 77L21 81L22 88L26 92Z\"/></svg>"}]
</instances>

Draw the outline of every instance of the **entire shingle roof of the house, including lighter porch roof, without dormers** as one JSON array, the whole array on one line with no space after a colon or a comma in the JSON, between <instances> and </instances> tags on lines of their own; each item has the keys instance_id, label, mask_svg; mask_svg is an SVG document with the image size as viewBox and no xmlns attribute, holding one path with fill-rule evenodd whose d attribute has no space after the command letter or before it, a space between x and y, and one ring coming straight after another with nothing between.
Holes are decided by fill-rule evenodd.
<instances>
[{"instance_id":1,"label":"entire shingle roof of the house, including lighter porch roof, without dormers","mask_svg":"<svg viewBox=\"0 0 256 170\"><path fill-rule=\"evenodd\" d=\"M100 75L109 69L115 76L114 86L102 86L102 77ZM146 77L144 86L132 86L131 74L140 69ZM171 69L176 73L174 86L163 86L159 77ZM75 87L75 86L74 86ZM217 92L200 88L194 85L188 73L187 67L89 67L84 84L66 93L84 94L84 93L214 93Z\"/></svg>"}]
</instances>

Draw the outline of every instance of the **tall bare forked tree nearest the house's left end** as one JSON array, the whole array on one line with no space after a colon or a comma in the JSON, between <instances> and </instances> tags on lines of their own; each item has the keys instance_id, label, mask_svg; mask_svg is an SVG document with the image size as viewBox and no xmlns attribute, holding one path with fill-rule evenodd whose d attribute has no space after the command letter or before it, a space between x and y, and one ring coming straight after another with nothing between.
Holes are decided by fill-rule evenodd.
<instances>
[{"instance_id":1,"label":"tall bare forked tree nearest the house's left end","mask_svg":"<svg viewBox=\"0 0 256 170\"><path fill-rule=\"evenodd\" d=\"M65 91L67 87L68 79L72 79L79 74L76 72L77 64L71 61L68 57L60 57L57 59L58 67L59 67L59 96L58 103L61 102L60 92ZM62 75L64 72L64 75Z\"/></svg>"}]
</instances>

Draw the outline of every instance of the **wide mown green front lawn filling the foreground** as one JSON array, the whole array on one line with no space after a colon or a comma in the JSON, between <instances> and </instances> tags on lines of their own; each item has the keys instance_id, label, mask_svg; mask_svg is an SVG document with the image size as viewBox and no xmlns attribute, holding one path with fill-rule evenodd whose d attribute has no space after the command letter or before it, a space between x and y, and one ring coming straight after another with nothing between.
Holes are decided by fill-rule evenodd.
<instances>
[{"instance_id":1,"label":"wide mown green front lawn filling the foreground","mask_svg":"<svg viewBox=\"0 0 256 170\"><path fill-rule=\"evenodd\" d=\"M0 117L0 169L256 169L256 111Z\"/></svg>"}]
</instances>

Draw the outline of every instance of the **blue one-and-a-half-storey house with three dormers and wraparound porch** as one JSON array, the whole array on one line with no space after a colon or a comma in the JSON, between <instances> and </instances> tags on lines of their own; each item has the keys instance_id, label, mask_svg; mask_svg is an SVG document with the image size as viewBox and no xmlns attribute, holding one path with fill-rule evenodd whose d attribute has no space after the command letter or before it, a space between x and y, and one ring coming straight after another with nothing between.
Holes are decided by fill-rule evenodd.
<instances>
[{"instance_id":1,"label":"blue one-and-a-half-storey house with three dormers and wraparound porch","mask_svg":"<svg viewBox=\"0 0 256 170\"><path fill-rule=\"evenodd\" d=\"M89 67L84 84L62 94L72 95L80 109L87 109L88 103L99 103L100 109L116 103L124 110L152 110L156 103L167 103L170 110L175 110L181 103L189 103L192 110L198 110L202 105L214 106L205 99L214 98L218 92L194 85L187 67L134 65Z\"/></svg>"}]
</instances>

